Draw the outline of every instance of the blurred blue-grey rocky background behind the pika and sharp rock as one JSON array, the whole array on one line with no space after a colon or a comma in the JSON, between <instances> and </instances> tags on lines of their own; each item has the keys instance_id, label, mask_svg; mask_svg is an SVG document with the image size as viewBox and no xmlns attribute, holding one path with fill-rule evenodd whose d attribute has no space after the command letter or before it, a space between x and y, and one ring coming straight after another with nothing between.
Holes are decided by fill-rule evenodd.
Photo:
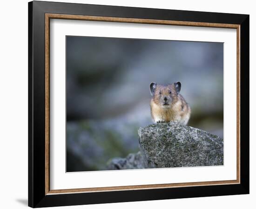
<instances>
[{"instance_id":1,"label":"blurred blue-grey rocky background behind the pika and sharp rock","mask_svg":"<svg viewBox=\"0 0 256 209\"><path fill-rule=\"evenodd\" d=\"M67 172L106 170L152 123L149 84L182 83L189 126L223 138L223 43L67 36Z\"/></svg>"}]
</instances>

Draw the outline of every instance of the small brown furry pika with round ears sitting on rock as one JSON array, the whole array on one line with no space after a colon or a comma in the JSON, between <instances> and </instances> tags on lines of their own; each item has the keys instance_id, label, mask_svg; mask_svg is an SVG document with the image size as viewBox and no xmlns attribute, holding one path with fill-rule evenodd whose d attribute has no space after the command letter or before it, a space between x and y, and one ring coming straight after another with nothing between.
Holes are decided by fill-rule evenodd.
<instances>
[{"instance_id":1,"label":"small brown furry pika with round ears sitting on rock","mask_svg":"<svg viewBox=\"0 0 256 209\"><path fill-rule=\"evenodd\" d=\"M155 123L177 121L186 125L190 118L190 107L180 94L181 83L169 85L150 84L151 116Z\"/></svg>"}]
</instances>

